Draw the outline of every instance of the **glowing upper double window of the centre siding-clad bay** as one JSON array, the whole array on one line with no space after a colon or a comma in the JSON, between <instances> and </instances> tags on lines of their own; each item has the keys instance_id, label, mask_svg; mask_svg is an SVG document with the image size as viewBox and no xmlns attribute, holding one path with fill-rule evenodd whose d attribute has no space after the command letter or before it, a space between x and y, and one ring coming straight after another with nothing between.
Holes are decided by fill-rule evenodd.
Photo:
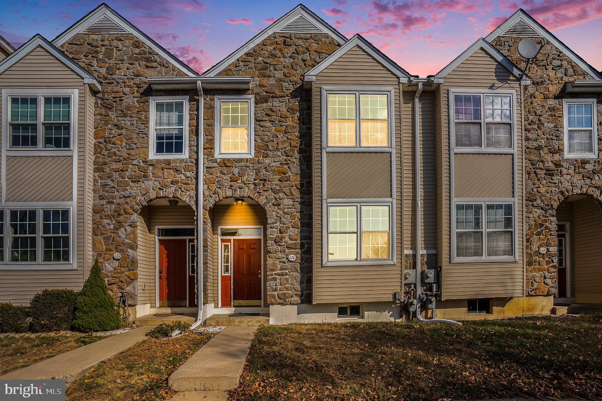
<instances>
[{"instance_id":1,"label":"glowing upper double window of the centre siding-clad bay","mask_svg":"<svg viewBox=\"0 0 602 401\"><path fill-rule=\"evenodd\" d=\"M328 147L389 147L391 94L328 93Z\"/></svg>"}]
</instances>

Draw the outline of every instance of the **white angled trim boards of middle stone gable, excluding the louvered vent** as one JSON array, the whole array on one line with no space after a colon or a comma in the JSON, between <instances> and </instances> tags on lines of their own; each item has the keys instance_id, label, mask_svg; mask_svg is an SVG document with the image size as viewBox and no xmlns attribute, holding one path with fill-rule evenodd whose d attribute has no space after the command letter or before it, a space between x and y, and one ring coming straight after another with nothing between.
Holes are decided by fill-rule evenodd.
<instances>
[{"instance_id":1,"label":"white angled trim boards of middle stone gable, excluding the louvered vent","mask_svg":"<svg viewBox=\"0 0 602 401\"><path fill-rule=\"evenodd\" d=\"M320 28L321 31L334 37L338 41L338 43L343 44L347 41L347 38L341 35L341 33L337 31L337 29L332 28L332 26L324 22L323 19L312 13L312 11L305 7L305 5L299 4L297 5L297 7L293 8L293 10L288 11L288 13L284 14L284 16L280 17L278 20L273 22L272 25L268 26L263 31L256 34L251 40L247 41L247 43L243 44L243 46L239 47L236 51L232 52L232 54L230 54L228 57L226 57L210 69L206 70L203 73L203 76L216 76L219 72L228 67L232 63L232 61L241 57L241 55L248 52L256 44L261 43L261 41L263 41L266 37L275 32L282 32L282 29L284 29L284 27L287 26L288 23L293 22L299 16L303 16L306 20Z\"/></svg>"}]
</instances>

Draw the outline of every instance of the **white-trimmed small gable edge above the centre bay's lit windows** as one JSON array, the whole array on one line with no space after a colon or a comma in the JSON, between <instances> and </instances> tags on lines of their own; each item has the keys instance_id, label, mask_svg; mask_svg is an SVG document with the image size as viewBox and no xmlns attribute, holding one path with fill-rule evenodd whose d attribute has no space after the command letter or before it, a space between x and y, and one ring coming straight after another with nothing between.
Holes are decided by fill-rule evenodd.
<instances>
[{"instance_id":1,"label":"white-trimmed small gable edge above the centre bay's lit windows","mask_svg":"<svg viewBox=\"0 0 602 401\"><path fill-rule=\"evenodd\" d=\"M380 64L382 64L386 69L388 69L393 75L399 78L399 82L408 83L412 78L406 70L402 69L402 67L398 66L393 60L386 57L383 52L374 47L372 43L365 40L364 37L360 34L355 34L352 38L350 38L347 43L343 44L343 46L339 47L337 50L332 52L328 57L324 58L324 60L320 61L320 63L316 64L311 70L305 73L304 81L315 81L315 76L321 73L326 67L330 66L330 64L337 61L342 55L346 54L353 47L358 46L363 51L367 52L374 59L376 59Z\"/></svg>"}]
</instances>

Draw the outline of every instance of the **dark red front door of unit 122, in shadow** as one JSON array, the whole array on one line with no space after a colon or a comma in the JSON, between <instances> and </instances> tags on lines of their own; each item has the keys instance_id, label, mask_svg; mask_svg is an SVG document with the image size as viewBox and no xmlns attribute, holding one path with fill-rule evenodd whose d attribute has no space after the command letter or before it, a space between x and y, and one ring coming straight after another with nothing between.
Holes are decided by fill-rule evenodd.
<instances>
[{"instance_id":1,"label":"dark red front door of unit 122, in shadow","mask_svg":"<svg viewBox=\"0 0 602 401\"><path fill-rule=\"evenodd\" d=\"M188 241L159 240L159 305L186 306Z\"/></svg>"}]
</instances>

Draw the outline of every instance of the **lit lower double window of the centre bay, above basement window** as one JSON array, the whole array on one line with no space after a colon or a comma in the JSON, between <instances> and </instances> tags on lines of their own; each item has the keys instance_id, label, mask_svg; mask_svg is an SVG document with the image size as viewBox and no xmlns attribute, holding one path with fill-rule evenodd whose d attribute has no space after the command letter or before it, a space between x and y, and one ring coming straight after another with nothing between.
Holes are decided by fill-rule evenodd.
<instances>
[{"instance_id":1,"label":"lit lower double window of the centre bay, above basement window","mask_svg":"<svg viewBox=\"0 0 602 401\"><path fill-rule=\"evenodd\" d=\"M327 260L391 260L391 205L328 206Z\"/></svg>"}]
</instances>

